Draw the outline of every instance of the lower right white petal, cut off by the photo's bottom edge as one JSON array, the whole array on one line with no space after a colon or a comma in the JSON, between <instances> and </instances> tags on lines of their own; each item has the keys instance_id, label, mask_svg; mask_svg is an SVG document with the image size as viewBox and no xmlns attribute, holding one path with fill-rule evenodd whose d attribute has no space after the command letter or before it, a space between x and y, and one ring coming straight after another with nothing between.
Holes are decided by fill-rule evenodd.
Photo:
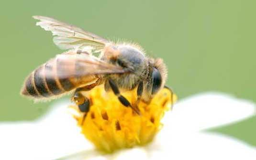
<instances>
[{"instance_id":1,"label":"lower right white petal, cut off by the photo's bottom edge","mask_svg":"<svg viewBox=\"0 0 256 160\"><path fill-rule=\"evenodd\" d=\"M148 146L153 159L255 160L256 148L214 133L191 132L158 138Z\"/></svg>"}]
</instances>

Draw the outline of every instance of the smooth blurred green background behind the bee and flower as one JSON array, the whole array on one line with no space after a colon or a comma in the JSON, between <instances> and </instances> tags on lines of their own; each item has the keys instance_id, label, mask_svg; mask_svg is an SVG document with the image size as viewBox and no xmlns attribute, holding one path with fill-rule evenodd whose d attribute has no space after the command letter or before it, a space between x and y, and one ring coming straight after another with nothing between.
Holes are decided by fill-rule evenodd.
<instances>
[{"instance_id":1,"label":"smooth blurred green background behind the bee and flower","mask_svg":"<svg viewBox=\"0 0 256 160\"><path fill-rule=\"evenodd\" d=\"M138 42L164 58L167 84L184 98L219 91L256 101L256 1L25 0L0 6L0 121L33 120L49 103L19 95L24 78L61 53L33 15L54 17L110 39ZM66 97L67 98L67 97ZM256 117L214 131L256 146Z\"/></svg>"}]
</instances>

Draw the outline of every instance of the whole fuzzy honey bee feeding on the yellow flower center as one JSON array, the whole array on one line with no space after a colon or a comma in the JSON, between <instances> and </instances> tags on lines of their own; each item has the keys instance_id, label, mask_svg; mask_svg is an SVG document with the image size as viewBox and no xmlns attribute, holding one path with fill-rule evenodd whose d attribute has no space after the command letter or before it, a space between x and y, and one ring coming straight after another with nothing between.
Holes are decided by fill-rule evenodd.
<instances>
[{"instance_id":1,"label":"whole fuzzy honey bee feeding on the yellow flower center","mask_svg":"<svg viewBox=\"0 0 256 160\"><path fill-rule=\"evenodd\" d=\"M140 46L113 43L53 18L33 18L39 20L36 25L52 32L53 41L60 49L68 51L36 68L25 79L22 95L48 100L73 92L71 99L86 114L90 101L81 92L103 84L106 92L112 91L123 106L131 107L140 115L136 107L139 101L149 103L165 87L167 68L163 60L146 56ZM137 101L131 104L120 91L134 88Z\"/></svg>"}]
</instances>

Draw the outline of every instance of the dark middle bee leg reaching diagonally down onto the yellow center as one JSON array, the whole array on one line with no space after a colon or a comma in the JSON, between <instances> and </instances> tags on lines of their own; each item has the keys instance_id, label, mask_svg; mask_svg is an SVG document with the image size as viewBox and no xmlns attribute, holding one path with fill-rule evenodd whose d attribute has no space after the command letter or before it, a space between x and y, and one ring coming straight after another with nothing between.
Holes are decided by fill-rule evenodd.
<instances>
[{"instance_id":1,"label":"dark middle bee leg reaching diagonally down onto the yellow center","mask_svg":"<svg viewBox=\"0 0 256 160\"><path fill-rule=\"evenodd\" d=\"M110 84L110 87L111 87L112 91L113 91L114 94L118 97L119 101L122 103L123 106L125 106L125 107L131 107L131 108L134 110L134 112L136 112L138 115L141 114L138 108L133 107L133 106L131 105L131 103L130 103L124 96L122 96L122 95L120 94L120 91L119 91L119 89L118 89L118 86L114 83L113 80L109 79L109 84Z\"/></svg>"}]
</instances>

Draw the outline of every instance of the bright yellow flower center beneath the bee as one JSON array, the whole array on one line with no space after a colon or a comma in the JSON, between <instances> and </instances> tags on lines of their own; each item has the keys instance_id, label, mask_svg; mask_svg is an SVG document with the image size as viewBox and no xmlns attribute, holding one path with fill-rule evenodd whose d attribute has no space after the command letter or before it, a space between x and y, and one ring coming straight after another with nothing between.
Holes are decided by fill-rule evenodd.
<instances>
[{"instance_id":1,"label":"bright yellow flower center beneath the bee","mask_svg":"<svg viewBox=\"0 0 256 160\"><path fill-rule=\"evenodd\" d=\"M122 92L131 104L137 100L136 90ZM139 102L141 115L132 108L124 107L112 92L106 93L102 85L89 92L90 110L83 121L84 113L77 106L71 106L73 114L81 128L81 133L101 151L112 152L116 149L145 145L152 141L162 128L160 122L165 111L177 100L171 92L160 90L149 104Z\"/></svg>"}]
</instances>

